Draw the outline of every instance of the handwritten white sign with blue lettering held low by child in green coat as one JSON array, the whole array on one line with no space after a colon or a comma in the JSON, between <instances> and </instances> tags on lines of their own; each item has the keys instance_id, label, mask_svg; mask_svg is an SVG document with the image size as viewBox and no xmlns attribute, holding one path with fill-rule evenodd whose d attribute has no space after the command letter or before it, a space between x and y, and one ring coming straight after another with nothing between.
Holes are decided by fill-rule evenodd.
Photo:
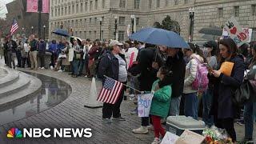
<instances>
[{"instance_id":1,"label":"handwritten white sign with blue lettering held low by child in green coat","mask_svg":"<svg viewBox=\"0 0 256 144\"><path fill-rule=\"evenodd\" d=\"M138 95L138 117L149 117L153 94Z\"/></svg>"}]
</instances>

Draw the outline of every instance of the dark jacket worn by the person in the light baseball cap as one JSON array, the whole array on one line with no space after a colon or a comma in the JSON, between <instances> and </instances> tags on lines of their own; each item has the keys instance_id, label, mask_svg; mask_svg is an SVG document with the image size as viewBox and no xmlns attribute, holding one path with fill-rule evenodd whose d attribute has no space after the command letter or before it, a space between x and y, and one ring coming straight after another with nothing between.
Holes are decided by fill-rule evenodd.
<instances>
[{"instance_id":1,"label":"dark jacket worn by the person in the light baseball cap","mask_svg":"<svg viewBox=\"0 0 256 144\"><path fill-rule=\"evenodd\" d=\"M119 55L126 61L126 58L123 54L119 54ZM103 54L98 66L98 78L101 78L103 83L105 82L105 79L106 79L104 75L118 81L118 73L119 73L118 58L116 58L114 54L112 54L112 52L110 51Z\"/></svg>"}]
</instances>

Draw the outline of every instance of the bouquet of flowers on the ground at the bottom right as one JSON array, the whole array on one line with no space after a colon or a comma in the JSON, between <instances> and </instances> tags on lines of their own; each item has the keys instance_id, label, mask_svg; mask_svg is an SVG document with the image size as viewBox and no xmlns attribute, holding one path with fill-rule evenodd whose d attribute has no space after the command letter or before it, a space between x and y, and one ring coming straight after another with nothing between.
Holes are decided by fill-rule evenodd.
<instances>
[{"instance_id":1,"label":"bouquet of flowers on the ground at the bottom right","mask_svg":"<svg viewBox=\"0 0 256 144\"><path fill-rule=\"evenodd\" d=\"M218 129L215 126L206 128L202 134L206 137L207 144L233 144L232 139L226 134L226 130Z\"/></svg>"}]
</instances>

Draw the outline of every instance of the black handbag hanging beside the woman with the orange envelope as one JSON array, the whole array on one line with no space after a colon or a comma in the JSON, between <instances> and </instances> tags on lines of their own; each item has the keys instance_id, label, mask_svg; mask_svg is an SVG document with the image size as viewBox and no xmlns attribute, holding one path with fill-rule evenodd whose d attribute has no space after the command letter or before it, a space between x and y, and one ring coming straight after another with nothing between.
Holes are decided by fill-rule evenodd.
<instances>
[{"instance_id":1,"label":"black handbag hanging beside the woman with the orange envelope","mask_svg":"<svg viewBox=\"0 0 256 144\"><path fill-rule=\"evenodd\" d=\"M250 85L250 81L245 79L242 85L235 90L233 102L237 106L243 106L250 98L250 95L254 94L253 87Z\"/></svg>"}]
</instances>

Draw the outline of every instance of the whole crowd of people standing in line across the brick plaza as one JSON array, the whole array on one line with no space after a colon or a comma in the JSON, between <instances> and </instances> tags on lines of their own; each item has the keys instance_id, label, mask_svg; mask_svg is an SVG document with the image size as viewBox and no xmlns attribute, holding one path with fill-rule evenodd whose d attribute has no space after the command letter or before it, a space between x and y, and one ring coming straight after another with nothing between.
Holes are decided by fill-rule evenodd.
<instances>
[{"instance_id":1,"label":"whole crowd of people standing in line across the brick plaza","mask_svg":"<svg viewBox=\"0 0 256 144\"><path fill-rule=\"evenodd\" d=\"M46 42L32 34L16 42L6 38L3 52L6 66L10 68L15 69L16 57L17 67L38 70L39 60L41 69L49 65L54 71L70 71L74 78L99 78L103 84L107 76L133 87L135 90L124 87L115 104L104 103L102 119L106 123L125 121L120 112L124 95L132 97L139 94L138 91L153 92L150 117L142 118L141 126L132 130L135 134L148 134L153 128L152 143L160 143L164 137L166 131L161 123L167 116L184 114L198 119L198 95L202 96L202 120L207 126L225 129L233 142L237 141L234 119L243 109L244 141L251 141L256 120L256 88L244 107L236 106L232 98L245 78L256 80L256 42L238 47L231 38L224 38L206 42L201 47L188 44L189 49L180 49L130 40L90 42L86 39L81 42L78 38L70 41L62 38L61 42ZM45 63L47 52L50 62ZM219 70L223 62L234 63L230 75ZM205 90L194 88L200 64L209 65ZM245 70L250 70L246 76Z\"/></svg>"}]
</instances>

